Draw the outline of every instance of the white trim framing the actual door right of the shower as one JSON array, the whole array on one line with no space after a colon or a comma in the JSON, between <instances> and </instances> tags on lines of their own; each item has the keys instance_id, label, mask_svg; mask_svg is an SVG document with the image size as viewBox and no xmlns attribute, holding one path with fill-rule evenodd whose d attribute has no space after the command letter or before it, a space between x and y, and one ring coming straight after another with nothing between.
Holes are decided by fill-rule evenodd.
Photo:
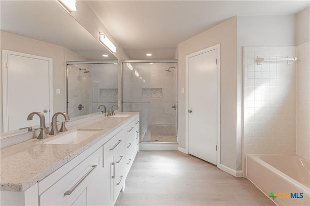
<instances>
[{"instance_id":1,"label":"white trim framing the actual door right of the shower","mask_svg":"<svg viewBox=\"0 0 310 206\"><path fill-rule=\"evenodd\" d=\"M186 55L186 92L185 92L185 108L186 108L186 116L185 116L185 151L188 154L188 59L212 50L217 49L217 167L220 166L220 44L216 44L214 46L208 47L206 49L202 49L198 52Z\"/></svg>"}]
</instances>

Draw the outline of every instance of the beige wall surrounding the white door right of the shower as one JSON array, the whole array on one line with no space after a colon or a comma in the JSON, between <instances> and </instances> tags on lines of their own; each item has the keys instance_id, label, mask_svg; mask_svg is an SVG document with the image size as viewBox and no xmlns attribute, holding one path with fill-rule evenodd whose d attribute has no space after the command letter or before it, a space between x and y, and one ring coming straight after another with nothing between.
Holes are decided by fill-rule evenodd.
<instances>
[{"instance_id":1,"label":"beige wall surrounding the white door right of the shower","mask_svg":"<svg viewBox=\"0 0 310 206\"><path fill-rule=\"evenodd\" d=\"M185 93L186 55L210 46L221 44L221 164L233 170L236 165L236 119L237 119L237 17L230 18L217 26L178 44L179 78L179 147L185 149Z\"/></svg>"}]
</instances>

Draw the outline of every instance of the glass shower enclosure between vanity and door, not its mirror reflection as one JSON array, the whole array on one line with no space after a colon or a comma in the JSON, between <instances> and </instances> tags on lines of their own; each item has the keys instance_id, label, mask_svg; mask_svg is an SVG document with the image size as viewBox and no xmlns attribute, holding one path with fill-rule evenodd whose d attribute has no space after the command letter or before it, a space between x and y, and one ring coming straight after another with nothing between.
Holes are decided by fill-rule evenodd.
<instances>
[{"instance_id":1,"label":"glass shower enclosure between vanity and door, not its mirror reflection","mask_svg":"<svg viewBox=\"0 0 310 206\"><path fill-rule=\"evenodd\" d=\"M140 142L177 143L176 62L123 62L123 111L140 112Z\"/></svg>"}]
</instances>

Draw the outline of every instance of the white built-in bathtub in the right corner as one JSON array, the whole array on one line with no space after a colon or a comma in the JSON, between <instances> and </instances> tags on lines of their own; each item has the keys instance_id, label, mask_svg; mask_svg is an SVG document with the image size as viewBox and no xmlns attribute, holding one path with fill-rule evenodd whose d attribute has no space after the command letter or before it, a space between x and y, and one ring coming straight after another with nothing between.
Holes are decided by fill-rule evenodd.
<instances>
[{"instance_id":1,"label":"white built-in bathtub in the right corner","mask_svg":"<svg viewBox=\"0 0 310 206\"><path fill-rule=\"evenodd\" d=\"M265 195L276 194L279 206L310 205L310 161L303 157L247 155L247 177Z\"/></svg>"}]
</instances>

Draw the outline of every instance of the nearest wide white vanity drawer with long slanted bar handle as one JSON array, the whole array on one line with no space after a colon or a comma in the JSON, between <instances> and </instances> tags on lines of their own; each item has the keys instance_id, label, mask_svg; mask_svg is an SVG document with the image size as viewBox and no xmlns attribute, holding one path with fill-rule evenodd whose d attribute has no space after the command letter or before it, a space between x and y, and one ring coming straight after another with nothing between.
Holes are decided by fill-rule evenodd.
<instances>
[{"instance_id":1,"label":"nearest wide white vanity drawer with long slanted bar handle","mask_svg":"<svg viewBox=\"0 0 310 206\"><path fill-rule=\"evenodd\" d=\"M60 206L65 201L77 199L97 172L102 169L103 148L100 147L84 161L59 179L40 195L40 205Z\"/></svg>"}]
</instances>

